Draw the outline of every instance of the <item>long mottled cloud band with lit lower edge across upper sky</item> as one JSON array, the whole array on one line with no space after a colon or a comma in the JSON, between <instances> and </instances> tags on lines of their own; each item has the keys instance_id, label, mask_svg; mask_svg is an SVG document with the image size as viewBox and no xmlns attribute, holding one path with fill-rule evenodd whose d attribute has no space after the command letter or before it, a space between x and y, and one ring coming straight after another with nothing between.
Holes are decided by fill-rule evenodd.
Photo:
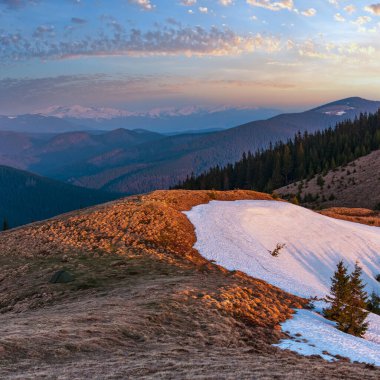
<instances>
[{"instance_id":1,"label":"long mottled cloud band with lit lower edge across upper sky","mask_svg":"<svg viewBox=\"0 0 380 380\"><path fill-rule=\"evenodd\" d=\"M86 36L81 40L54 37L51 25L36 28L33 38L20 33L0 34L0 60L67 59L83 56L223 56L236 55L257 50L273 52L281 49L281 41L273 36L261 34L240 35L228 28L209 29L170 25L155 30L142 31L124 27L115 20L108 21L108 34L97 37Z\"/></svg>"}]
</instances>

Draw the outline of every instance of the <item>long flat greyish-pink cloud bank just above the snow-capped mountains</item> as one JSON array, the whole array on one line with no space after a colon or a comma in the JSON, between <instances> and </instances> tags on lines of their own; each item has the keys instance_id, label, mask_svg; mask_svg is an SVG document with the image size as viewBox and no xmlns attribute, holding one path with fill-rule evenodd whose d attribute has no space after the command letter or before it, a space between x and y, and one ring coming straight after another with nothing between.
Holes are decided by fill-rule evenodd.
<instances>
[{"instance_id":1,"label":"long flat greyish-pink cloud bank just above the snow-capped mountains","mask_svg":"<svg viewBox=\"0 0 380 380\"><path fill-rule=\"evenodd\" d=\"M65 75L38 79L20 78L0 80L0 114L32 112L54 104L84 106L125 106L134 102L161 102L163 94L175 99L194 96L194 93L228 93L252 89L287 90L294 84L272 79L207 79L181 76L110 76ZM196 97L194 97L196 98ZM14 102L13 99L17 99ZM121 101L122 100L122 101Z\"/></svg>"}]
</instances>

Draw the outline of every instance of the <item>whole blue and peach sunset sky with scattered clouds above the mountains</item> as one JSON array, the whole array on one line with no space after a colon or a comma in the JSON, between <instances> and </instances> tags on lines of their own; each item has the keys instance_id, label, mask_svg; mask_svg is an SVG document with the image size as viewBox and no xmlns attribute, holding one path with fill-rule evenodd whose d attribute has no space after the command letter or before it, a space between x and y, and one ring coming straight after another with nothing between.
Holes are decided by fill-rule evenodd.
<instances>
[{"instance_id":1,"label":"whole blue and peach sunset sky with scattered clouds above the mountains","mask_svg":"<svg viewBox=\"0 0 380 380\"><path fill-rule=\"evenodd\" d=\"M376 0L0 0L0 114L301 110L379 88Z\"/></svg>"}]
</instances>

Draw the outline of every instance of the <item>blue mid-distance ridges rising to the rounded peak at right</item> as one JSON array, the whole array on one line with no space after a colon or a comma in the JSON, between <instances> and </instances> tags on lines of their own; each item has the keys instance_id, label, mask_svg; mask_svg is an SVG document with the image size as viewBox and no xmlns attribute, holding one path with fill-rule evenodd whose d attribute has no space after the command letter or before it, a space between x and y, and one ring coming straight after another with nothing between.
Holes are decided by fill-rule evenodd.
<instances>
[{"instance_id":1,"label":"blue mid-distance ridges rising to the rounded peak at right","mask_svg":"<svg viewBox=\"0 0 380 380\"><path fill-rule=\"evenodd\" d=\"M168 188L192 172L235 162L243 152L265 149L298 131L335 126L378 108L380 102L348 98L228 130L173 136L126 129L54 136L1 132L0 163L85 187L141 193Z\"/></svg>"}]
</instances>

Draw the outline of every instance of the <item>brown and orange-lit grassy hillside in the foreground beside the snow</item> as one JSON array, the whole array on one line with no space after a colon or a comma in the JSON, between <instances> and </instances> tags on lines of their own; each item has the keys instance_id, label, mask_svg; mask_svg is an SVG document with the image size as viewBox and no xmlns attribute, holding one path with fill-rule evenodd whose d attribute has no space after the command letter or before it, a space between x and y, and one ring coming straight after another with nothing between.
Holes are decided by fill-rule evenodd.
<instances>
[{"instance_id":1,"label":"brown and orange-lit grassy hillside in the foreground beside the snow","mask_svg":"<svg viewBox=\"0 0 380 380\"><path fill-rule=\"evenodd\" d=\"M182 211L214 199L271 197L159 191L0 233L0 376L378 378L271 345L306 302L192 248Z\"/></svg>"}]
</instances>

